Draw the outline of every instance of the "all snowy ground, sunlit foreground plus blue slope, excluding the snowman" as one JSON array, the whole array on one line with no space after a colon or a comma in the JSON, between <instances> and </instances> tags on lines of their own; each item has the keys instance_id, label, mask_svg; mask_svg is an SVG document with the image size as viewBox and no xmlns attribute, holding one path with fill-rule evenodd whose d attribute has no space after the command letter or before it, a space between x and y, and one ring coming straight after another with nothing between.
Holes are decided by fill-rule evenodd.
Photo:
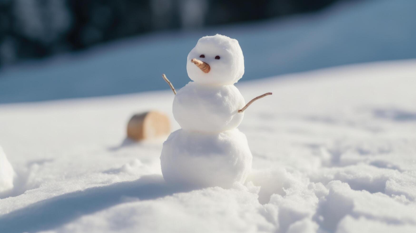
<instances>
[{"instance_id":1,"label":"all snowy ground, sunlit foreground plus blue slope, excluding the snowman","mask_svg":"<svg viewBox=\"0 0 416 233\"><path fill-rule=\"evenodd\" d=\"M0 193L0 232L415 232L415 4L343 3L3 69L0 145L15 176ZM239 125L253 155L244 184L168 184L167 135L126 139L130 117L151 109L180 128L171 90L13 103L168 89L162 72L179 89L186 54L217 32L243 48L242 81L256 79L238 82L243 97L273 92ZM408 60L300 73L393 59Z\"/></svg>"}]
</instances>

